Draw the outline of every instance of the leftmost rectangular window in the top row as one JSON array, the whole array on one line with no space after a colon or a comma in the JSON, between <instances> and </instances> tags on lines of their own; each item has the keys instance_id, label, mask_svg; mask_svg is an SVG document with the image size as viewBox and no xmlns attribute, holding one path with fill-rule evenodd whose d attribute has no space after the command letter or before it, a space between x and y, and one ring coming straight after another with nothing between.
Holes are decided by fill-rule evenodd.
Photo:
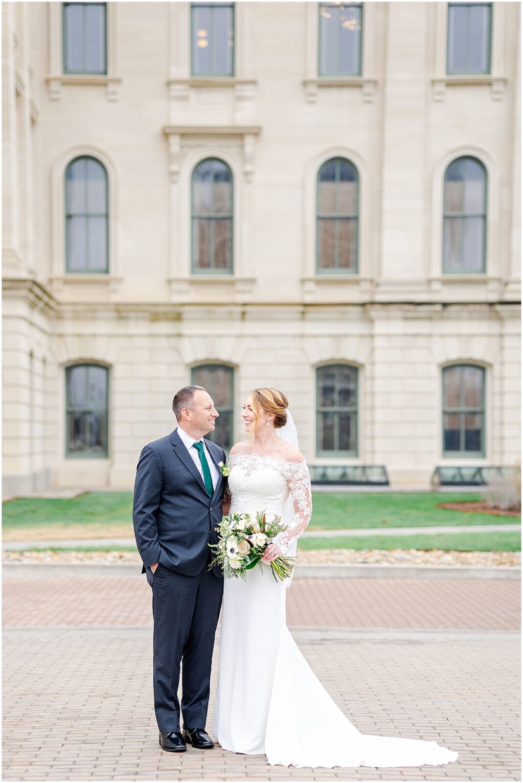
<instances>
[{"instance_id":1,"label":"leftmost rectangular window in the top row","mask_svg":"<svg viewBox=\"0 0 523 783\"><path fill-rule=\"evenodd\" d=\"M63 73L106 74L106 3L64 2Z\"/></svg>"}]
</instances>

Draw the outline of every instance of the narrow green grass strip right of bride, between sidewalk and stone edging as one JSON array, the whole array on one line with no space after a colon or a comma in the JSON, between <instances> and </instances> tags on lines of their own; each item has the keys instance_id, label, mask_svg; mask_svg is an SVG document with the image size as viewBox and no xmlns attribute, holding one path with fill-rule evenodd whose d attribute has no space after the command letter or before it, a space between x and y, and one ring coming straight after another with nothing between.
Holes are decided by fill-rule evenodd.
<instances>
[{"instance_id":1,"label":"narrow green grass strip right of bride, between sidewalk and stone edging","mask_svg":"<svg viewBox=\"0 0 523 783\"><path fill-rule=\"evenodd\" d=\"M300 549L453 549L519 552L519 532L441 533L435 536L333 536L298 539Z\"/></svg>"}]
</instances>

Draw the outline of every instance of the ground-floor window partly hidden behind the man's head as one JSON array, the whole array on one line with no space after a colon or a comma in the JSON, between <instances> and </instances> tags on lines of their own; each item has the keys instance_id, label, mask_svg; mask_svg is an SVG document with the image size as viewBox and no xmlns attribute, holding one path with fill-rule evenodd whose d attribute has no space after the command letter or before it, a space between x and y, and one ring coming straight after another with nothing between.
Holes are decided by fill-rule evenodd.
<instances>
[{"instance_id":1,"label":"ground-floor window partly hidden behind the man's head","mask_svg":"<svg viewBox=\"0 0 523 783\"><path fill-rule=\"evenodd\" d=\"M234 370L222 364L202 364L193 367L191 383L207 389L220 414L215 431L205 437L229 452L234 443Z\"/></svg>"}]
</instances>

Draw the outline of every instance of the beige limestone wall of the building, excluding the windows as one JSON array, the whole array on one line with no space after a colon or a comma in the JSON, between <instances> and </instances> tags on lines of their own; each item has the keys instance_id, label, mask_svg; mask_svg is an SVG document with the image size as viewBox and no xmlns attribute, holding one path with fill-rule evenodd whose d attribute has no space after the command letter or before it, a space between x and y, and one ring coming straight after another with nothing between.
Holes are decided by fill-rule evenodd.
<instances>
[{"instance_id":1,"label":"beige limestone wall of the building, excluding the windows","mask_svg":"<svg viewBox=\"0 0 523 783\"><path fill-rule=\"evenodd\" d=\"M2 5L8 492L131 486L143 444L174 426L174 391L207 361L235 367L238 413L253 386L283 388L312 464L316 367L358 366L359 456L331 461L385 464L396 486L452 464L442 366L479 363L475 462L518 456L519 5L494 4L491 76L459 80L445 77L444 3L366 3L362 78L334 86L315 70L316 4L236 12L236 78L196 83L188 3L110 3L109 74L88 84L60 74L59 3ZM108 276L65 274L63 175L79 154L109 176ZM442 183L461 154L489 175L487 271L450 278ZM338 155L360 178L352 277L316 275L316 176ZM233 171L230 279L190 276L190 176L207 156ZM110 369L106 460L65 458L78 362Z\"/></svg>"}]
</instances>

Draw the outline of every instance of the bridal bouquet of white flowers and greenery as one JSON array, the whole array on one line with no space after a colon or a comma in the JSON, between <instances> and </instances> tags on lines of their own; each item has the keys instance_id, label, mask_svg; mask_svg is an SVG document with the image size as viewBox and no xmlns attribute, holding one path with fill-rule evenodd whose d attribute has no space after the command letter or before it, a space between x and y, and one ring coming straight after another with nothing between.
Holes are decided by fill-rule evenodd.
<instances>
[{"instance_id":1,"label":"bridal bouquet of white flowers and greenery","mask_svg":"<svg viewBox=\"0 0 523 783\"><path fill-rule=\"evenodd\" d=\"M281 517L274 516L272 521L267 521L265 511L258 511L254 517L232 511L222 517L220 525L215 528L220 540L217 544L209 544L215 555L209 568L221 565L225 579L240 576L245 581L247 571L258 563L262 568L265 547L283 530L286 528L281 524ZM278 579L283 582L290 576L295 560L295 557L276 557L272 561L270 566L276 582Z\"/></svg>"}]
</instances>

